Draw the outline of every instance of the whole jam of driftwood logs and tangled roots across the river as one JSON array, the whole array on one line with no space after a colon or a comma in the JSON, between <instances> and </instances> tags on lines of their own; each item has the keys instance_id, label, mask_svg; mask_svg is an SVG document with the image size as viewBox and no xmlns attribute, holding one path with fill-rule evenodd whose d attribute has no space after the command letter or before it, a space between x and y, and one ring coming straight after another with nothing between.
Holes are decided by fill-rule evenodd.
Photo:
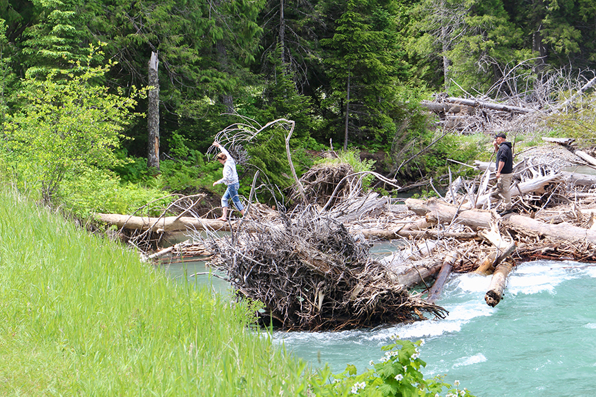
<instances>
[{"instance_id":1,"label":"whole jam of driftwood logs and tangled roots across the river","mask_svg":"<svg viewBox=\"0 0 596 397\"><path fill-rule=\"evenodd\" d=\"M98 216L123 229L152 233L231 232L209 238L196 233L193 242L146 259L211 255L211 264L227 273L240 296L263 302L262 321L282 329L336 330L442 318L447 312L434 302L452 272L491 276L485 300L494 306L519 261L596 262L595 176L523 159L514 169L516 212L500 216L494 164L475 166L480 172L474 180L457 178L446 194L437 191L438 197L405 204L376 193L356 195L350 187L356 179L334 168L305 175L310 204L294 212L251 203L242 220L231 222L184 211L177 217ZM338 179L350 181L347 190ZM369 244L376 240L390 240L396 252L373 255ZM412 293L414 287L423 292Z\"/></svg>"}]
</instances>

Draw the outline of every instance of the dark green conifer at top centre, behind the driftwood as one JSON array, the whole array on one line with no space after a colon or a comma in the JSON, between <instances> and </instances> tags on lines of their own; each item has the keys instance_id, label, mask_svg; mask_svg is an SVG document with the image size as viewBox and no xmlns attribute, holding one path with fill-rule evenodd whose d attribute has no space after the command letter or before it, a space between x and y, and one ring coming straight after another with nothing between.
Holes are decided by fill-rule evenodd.
<instances>
[{"instance_id":1,"label":"dark green conifer at top centre, behind the driftwood","mask_svg":"<svg viewBox=\"0 0 596 397\"><path fill-rule=\"evenodd\" d=\"M407 76L396 41L396 8L389 1L347 0L333 37L322 39L335 130L343 130L343 144L383 141L394 133L388 116L395 106L400 78ZM343 128L340 127L343 124Z\"/></svg>"}]
</instances>

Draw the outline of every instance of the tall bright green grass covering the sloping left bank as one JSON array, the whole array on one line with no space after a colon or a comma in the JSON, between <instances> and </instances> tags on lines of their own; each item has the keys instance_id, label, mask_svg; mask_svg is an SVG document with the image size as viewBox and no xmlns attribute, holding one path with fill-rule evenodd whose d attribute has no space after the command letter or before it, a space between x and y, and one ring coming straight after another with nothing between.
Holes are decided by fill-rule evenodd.
<instances>
[{"instance_id":1,"label":"tall bright green grass covering the sloping left bank","mask_svg":"<svg viewBox=\"0 0 596 397\"><path fill-rule=\"evenodd\" d=\"M1 396L296 396L251 309L0 187Z\"/></svg>"}]
</instances>

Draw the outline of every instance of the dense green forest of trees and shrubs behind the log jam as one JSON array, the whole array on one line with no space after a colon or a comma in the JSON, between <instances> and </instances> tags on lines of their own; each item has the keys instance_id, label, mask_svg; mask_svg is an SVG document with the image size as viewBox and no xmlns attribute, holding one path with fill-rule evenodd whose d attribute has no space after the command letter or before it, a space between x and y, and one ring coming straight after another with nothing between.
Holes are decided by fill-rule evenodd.
<instances>
[{"instance_id":1,"label":"dense green forest of trees and shrubs behind the log jam","mask_svg":"<svg viewBox=\"0 0 596 397\"><path fill-rule=\"evenodd\" d=\"M296 122L300 172L330 144L390 170L435 138L423 99L541 108L596 70L592 0L2 0L0 19L3 168L110 211L133 200L97 191L122 182L211 186L204 155L237 123ZM280 129L232 147L241 177L291 184ZM468 154L444 140L396 176Z\"/></svg>"}]
</instances>

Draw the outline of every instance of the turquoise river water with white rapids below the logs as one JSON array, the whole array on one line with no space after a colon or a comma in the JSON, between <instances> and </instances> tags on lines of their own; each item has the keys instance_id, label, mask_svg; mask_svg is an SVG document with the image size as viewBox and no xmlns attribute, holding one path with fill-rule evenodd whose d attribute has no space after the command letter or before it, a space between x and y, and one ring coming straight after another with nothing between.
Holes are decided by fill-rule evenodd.
<instances>
[{"instance_id":1,"label":"turquoise river water with white rapids below the logs","mask_svg":"<svg viewBox=\"0 0 596 397\"><path fill-rule=\"evenodd\" d=\"M193 263L168 271L180 279L184 271L205 269ZM227 289L222 280L198 278L215 291ZM425 376L459 380L478 397L596 396L596 266L518 264L494 308L484 302L489 283L481 275L452 275L436 302L449 311L443 320L358 331L278 331L273 338L315 368L328 363L337 373L353 364L361 373L396 334L425 341Z\"/></svg>"}]
</instances>

